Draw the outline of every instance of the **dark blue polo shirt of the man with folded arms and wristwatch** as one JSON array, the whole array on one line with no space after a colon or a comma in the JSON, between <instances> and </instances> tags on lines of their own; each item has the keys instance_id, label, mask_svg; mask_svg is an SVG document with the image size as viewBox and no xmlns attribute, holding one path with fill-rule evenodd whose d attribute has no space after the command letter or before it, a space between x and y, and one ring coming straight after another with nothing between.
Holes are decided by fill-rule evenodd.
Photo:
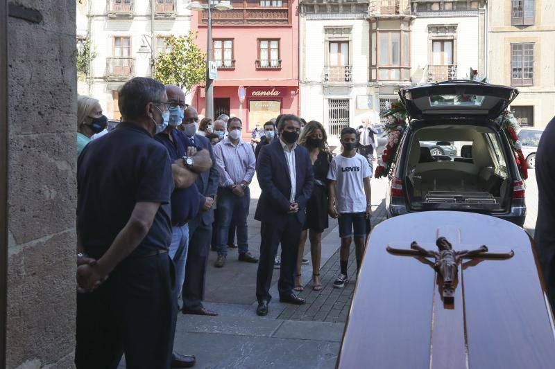
<instances>
[{"instance_id":1,"label":"dark blue polo shirt of the man with folded arms and wristwatch","mask_svg":"<svg viewBox=\"0 0 555 369\"><path fill-rule=\"evenodd\" d=\"M187 147L195 146L186 134L177 129L171 130L173 142L170 141L169 135L164 132L160 132L154 138L166 147L172 163L185 156ZM202 148L196 147L196 150L202 150ZM182 225L196 217L200 204L199 199L200 192L198 192L195 183L188 188L176 188L173 190L171 194L171 223L174 226Z\"/></svg>"}]
</instances>

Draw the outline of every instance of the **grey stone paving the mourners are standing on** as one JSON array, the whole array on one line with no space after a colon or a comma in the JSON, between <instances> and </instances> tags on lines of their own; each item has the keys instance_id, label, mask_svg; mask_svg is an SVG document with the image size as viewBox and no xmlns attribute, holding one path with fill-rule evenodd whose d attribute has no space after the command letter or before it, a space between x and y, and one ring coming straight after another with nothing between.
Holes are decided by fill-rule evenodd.
<instances>
[{"instance_id":1,"label":"grey stone paving the mourners are standing on","mask_svg":"<svg viewBox=\"0 0 555 369\"><path fill-rule=\"evenodd\" d=\"M386 180L372 181L373 218L375 226L385 218ZM527 181L528 216L524 229L533 234L536 224L538 196L535 177ZM260 225L253 219L259 189L256 179L251 185L248 218L249 246L259 255ZM225 267L216 269L216 253L210 254L207 272L205 306L219 313L216 317L178 315L174 349L197 357L196 368L334 368L341 343L344 323L355 290L355 251L352 246L348 264L350 280L343 289L334 289L339 273L339 231L337 221L323 235L321 280L323 289L311 289L311 266L302 267L305 290L300 296L307 304L296 306L278 301L276 283L279 269L273 275L270 313L262 318L255 314L257 264L237 261L237 250L229 252ZM309 245L305 255L309 258Z\"/></svg>"}]
</instances>

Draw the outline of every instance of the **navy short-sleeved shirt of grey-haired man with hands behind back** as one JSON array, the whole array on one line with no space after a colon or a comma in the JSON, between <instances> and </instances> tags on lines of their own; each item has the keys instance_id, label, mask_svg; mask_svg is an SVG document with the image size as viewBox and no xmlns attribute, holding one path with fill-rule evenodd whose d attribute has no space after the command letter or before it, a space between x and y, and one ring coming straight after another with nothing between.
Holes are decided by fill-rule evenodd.
<instances>
[{"instance_id":1,"label":"navy short-sleeved shirt of grey-haired man with hands behind back","mask_svg":"<svg viewBox=\"0 0 555 369\"><path fill-rule=\"evenodd\" d=\"M145 129L120 123L91 141L77 161L77 231L92 258L100 258L129 221L137 202L160 203L151 229L131 255L167 249L173 191L167 150Z\"/></svg>"}]
</instances>

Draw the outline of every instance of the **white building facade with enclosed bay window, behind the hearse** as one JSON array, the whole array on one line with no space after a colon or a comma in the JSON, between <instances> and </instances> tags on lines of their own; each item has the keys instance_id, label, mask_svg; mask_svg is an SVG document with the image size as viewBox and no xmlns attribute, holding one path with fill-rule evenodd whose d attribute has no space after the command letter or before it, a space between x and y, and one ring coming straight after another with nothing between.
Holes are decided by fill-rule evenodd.
<instances>
[{"instance_id":1,"label":"white building facade with enclosed bay window, behind the hearse","mask_svg":"<svg viewBox=\"0 0 555 369\"><path fill-rule=\"evenodd\" d=\"M485 0L301 1L301 116L337 145L343 127L398 100L402 87L486 73Z\"/></svg>"}]
</instances>

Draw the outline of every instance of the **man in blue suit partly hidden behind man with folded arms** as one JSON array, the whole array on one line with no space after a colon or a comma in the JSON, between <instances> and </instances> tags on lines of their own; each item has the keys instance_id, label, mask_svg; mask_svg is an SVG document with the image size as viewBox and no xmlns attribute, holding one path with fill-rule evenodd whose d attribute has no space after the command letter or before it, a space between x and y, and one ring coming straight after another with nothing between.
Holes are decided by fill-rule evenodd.
<instances>
[{"instance_id":1,"label":"man in blue suit partly hidden behind man with folded arms","mask_svg":"<svg viewBox=\"0 0 555 369\"><path fill-rule=\"evenodd\" d=\"M197 146L210 152L214 161L212 145L206 137L196 134L198 130L198 113L194 107L187 107L182 120L185 134ZM189 254L185 267L185 281L183 282L182 300L183 314L218 315L205 309L203 306L206 267L210 253L210 240L212 240L212 222L214 222L214 196L218 190L218 170L212 165L210 170L203 172L196 179L196 187L200 192L199 212L196 217L189 220Z\"/></svg>"}]
</instances>

